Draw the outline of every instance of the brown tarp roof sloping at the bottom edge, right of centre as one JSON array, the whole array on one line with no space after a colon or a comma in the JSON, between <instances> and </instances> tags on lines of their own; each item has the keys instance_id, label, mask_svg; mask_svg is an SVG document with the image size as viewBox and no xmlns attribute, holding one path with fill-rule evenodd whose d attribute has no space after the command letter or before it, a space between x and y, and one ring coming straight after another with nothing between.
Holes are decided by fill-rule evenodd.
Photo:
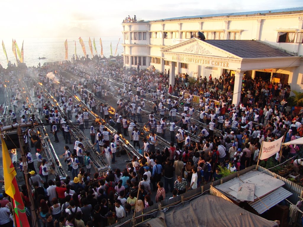
<instances>
[{"instance_id":1,"label":"brown tarp roof sloping at the bottom edge, right of centre","mask_svg":"<svg viewBox=\"0 0 303 227\"><path fill-rule=\"evenodd\" d=\"M163 212L158 212L156 218L139 226L273 227L278 224L248 212L223 198L205 195L185 202L183 206L180 204L169 208L164 215Z\"/></svg>"}]
</instances>

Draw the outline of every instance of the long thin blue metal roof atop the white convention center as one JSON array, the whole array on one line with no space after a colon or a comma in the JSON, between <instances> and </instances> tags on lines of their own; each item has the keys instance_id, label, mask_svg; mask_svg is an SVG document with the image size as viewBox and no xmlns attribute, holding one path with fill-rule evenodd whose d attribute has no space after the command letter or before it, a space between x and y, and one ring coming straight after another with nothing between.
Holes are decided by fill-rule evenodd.
<instances>
[{"instance_id":1,"label":"long thin blue metal roof atop the white convention center","mask_svg":"<svg viewBox=\"0 0 303 227\"><path fill-rule=\"evenodd\" d=\"M250 12L231 12L231 13L219 13L219 14L208 14L208 15L195 15L195 16L183 16L183 17L173 17L165 18L163 20L175 20L175 19L189 19L189 18L207 18L207 17L220 17L220 16L240 16L240 15L255 15L258 13L282 13L282 12L293 12L293 11L302 11L303 7L295 8L284 8L284 9L273 9L273 10L259 10L259 11L250 11Z\"/></svg>"}]
</instances>

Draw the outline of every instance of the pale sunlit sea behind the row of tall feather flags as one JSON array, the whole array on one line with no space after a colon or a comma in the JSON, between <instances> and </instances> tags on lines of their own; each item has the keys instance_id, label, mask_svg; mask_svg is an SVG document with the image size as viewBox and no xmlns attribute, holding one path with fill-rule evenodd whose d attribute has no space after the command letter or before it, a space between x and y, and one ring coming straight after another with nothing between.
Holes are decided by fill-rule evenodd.
<instances>
[{"instance_id":1,"label":"pale sunlit sea behind the row of tall feather flags","mask_svg":"<svg viewBox=\"0 0 303 227\"><path fill-rule=\"evenodd\" d=\"M75 54L75 41L76 41L76 50L77 55L82 57L84 53L82 51L81 44L79 42L79 37L50 37L50 38L24 38L23 44L23 52L24 52L24 63L27 67L35 66L37 67L39 62L43 65L44 62L48 61L64 61L65 60L65 46L64 42L67 39L68 41L68 61L72 59L73 54ZM81 37L85 44L86 54L88 54L88 58L92 58L92 54L90 48L88 46L88 39L89 37ZM118 41L120 42L118 44ZM94 44L93 44L94 37L91 37L92 41L92 48L93 54L95 55ZM104 36L101 37L102 39L102 46L103 46L103 54L105 57L110 56L110 43L112 42L112 53L115 55L115 50L117 48L117 55L121 56L123 52L122 42L123 38L120 36ZM22 41L23 39L16 38L16 42L18 44L19 50L21 51L22 48ZM16 62L16 58L12 51L12 39L3 39L5 44L5 50L7 53L8 60L11 61L12 64ZM100 55L101 53L101 46L100 46L100 37L95 37L95 43L97 48L97 53ZM38 59L38 58L45 57L46 59ZM18 58L19 59L19 58ZM3 52L3 48L0 48L0 64L3 68L7 68L7 60L5 54Z\"/></svg>"}]
</instances>

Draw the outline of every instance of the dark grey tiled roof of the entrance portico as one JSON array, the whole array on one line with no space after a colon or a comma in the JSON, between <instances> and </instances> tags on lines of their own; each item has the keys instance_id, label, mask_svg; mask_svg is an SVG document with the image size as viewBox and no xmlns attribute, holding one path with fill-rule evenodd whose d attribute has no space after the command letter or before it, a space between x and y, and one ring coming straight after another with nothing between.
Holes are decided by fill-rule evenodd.
<instances>
[{"instance_id":1,"label":"dark grey tiled roof of the entrance portico","mask_svg":"<svg viewBox=\"0 0 303 227\"><path fill-rule=\"evenodd\" d=\"M270 44L255 40L205 40L205 42L240 58L273 58L297 56Z\"/></svg>"}]
</instances>

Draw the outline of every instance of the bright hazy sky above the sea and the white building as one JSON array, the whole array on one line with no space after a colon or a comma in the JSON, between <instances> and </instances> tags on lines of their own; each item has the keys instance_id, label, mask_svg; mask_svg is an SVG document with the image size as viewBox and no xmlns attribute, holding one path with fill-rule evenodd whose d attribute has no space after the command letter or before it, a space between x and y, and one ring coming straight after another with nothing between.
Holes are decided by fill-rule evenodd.
<instances>
[{"instance_id":1,"label":"bright hazy sky above the sea and the white building","mask_svg":"<svg viewBox=\"0 0 303 227\"><path fill-rule=\"evenodd\" d=\"M155 20L300 6L302 0L2 0L0 29L1 38L68 37L72 28L84 29L90 36L114 36L121 35L121 22L127 15Z\"/></svg>"}]
</instances>

